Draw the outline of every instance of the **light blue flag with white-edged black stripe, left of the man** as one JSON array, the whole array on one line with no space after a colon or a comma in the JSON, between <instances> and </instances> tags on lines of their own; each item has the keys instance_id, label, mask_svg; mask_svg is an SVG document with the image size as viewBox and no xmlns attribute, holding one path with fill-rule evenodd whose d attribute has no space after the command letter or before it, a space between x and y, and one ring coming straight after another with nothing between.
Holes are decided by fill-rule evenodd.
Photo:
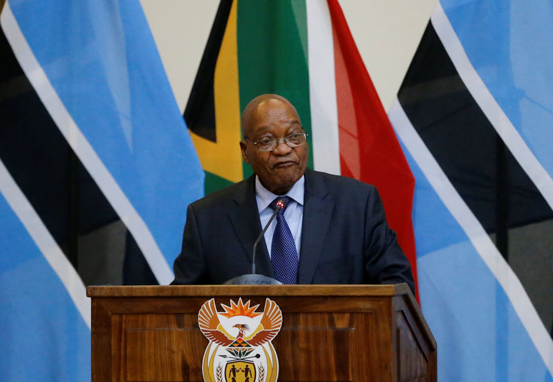
<instances>
[{"instance_id":1,"label":"light blue flag with white-edged black stripe, left of the man","mask_svg":"<svg viewBox=\"0 0 553 382\"><path fill-rule=\"evenodd\" d=\"M169 283L203 172L138 2L0 25L0 381L86 381L84 286Z\"/></svg>"}]
</instances>

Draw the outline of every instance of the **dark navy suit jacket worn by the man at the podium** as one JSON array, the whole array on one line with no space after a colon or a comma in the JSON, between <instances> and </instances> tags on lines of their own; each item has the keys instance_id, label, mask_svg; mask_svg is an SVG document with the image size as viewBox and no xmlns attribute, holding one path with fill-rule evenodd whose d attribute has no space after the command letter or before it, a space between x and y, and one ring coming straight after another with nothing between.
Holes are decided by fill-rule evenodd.
<instances>
[{"instance_id":1,"label":"dark navy suit jacket worn by the man at the podium","mask_svg":"<svg viewBox=\"0 0 553 382\"><path fill-rule=\"evenodd\" d=\"M309 169L305 177L299 284L406 282L413 291L409 261L376 188ZM250 273L260 233L254 176L191 203L173 284L222 284ZM274 277L263 239L255 262L256 273Z\"/></svg>"}]
</instances>

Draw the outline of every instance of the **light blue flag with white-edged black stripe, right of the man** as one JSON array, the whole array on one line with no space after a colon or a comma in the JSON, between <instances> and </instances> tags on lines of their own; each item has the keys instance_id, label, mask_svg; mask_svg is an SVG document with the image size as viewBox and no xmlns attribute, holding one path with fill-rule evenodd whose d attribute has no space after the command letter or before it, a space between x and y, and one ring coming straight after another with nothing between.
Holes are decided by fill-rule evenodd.
<instances>
[{"instance_id":1,"label":"light blue flag with white-edged black stripe, right of the man","mask_svg":"<svg viewBox=\"0 0 553 382\"><path fill-rule=\"evenodd\" d=\"M440 0L388 113L440 381L553 381L552 19Z\"/></svg>"}]
</instances>

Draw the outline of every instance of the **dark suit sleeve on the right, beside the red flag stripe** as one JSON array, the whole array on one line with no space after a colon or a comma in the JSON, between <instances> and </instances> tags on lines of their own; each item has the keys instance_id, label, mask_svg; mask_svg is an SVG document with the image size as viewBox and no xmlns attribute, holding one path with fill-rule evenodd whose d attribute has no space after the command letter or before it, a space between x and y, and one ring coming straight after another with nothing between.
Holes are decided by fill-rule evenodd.
<instances>
[{"instance_id":1,"label":"dark suit sleeve on the right, beside the red flag stripe","mask_svg":"<svg viewBox=\"0 0 553 382\"><path fill-rule=\"evenodd\" d=\"M365 282L400 284L406 282L415 294L411 265L397 244L397 235L386 223L384 205L376 188L368 195L365 232Z\"/></svg>"}]
</instances>

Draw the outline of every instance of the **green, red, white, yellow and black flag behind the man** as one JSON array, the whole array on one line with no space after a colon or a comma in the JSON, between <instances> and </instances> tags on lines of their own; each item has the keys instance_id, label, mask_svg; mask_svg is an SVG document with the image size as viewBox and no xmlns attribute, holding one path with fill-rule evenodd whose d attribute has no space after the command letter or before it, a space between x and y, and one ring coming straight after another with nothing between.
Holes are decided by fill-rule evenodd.
<instances>
[{"instance_id":1,"label":"green, red, white, yellow and black flag behind the man","mask_svg":"<svg viewBox=\"0 0 553 382\"><path fill-rule=\"evenodd\" d=\"M252 173L240 120L263 93L296 107L309 167L377 186L416 275L413 175L336 0L221 1L184 113L206 193Z\"/></svg>"}]
</instances>

